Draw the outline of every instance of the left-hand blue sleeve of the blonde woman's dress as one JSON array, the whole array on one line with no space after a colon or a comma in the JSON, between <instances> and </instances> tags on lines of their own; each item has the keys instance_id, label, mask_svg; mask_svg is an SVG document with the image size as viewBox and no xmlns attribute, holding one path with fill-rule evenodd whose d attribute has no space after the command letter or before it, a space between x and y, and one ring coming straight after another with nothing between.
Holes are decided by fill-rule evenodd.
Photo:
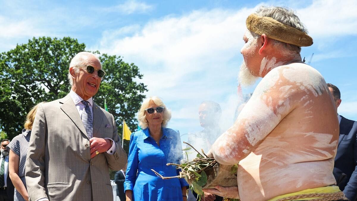
<instances>
[{"instance_id":1,"label":"left-hand blue sleeve of the blonde woman's dress","mask_svg":"<svg viewBox=\"0 0 357 201\"><path fill-rule=\"evenodd\" d=\"M137 165L139 163L139 152L137 149L136 136L132 133L130 136L129 143L129 156L128 165L126 168L126 176L124 182L124 192L126 190L133 190L136 180Z\"/></svg>"}]
</instances>

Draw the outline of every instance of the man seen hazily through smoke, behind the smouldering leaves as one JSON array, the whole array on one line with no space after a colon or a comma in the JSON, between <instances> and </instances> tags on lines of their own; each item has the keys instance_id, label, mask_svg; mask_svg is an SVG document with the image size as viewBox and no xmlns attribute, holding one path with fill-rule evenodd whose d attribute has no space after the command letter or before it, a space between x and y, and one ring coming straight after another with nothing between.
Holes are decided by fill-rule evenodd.
<instances>
[{"instance_id":1,"label":"man seen hazily through smoke, behind the smouldering leaves","mask_svg":"<svg viewBox=\"0 0 357 201\"><path fill-rule=\"evenodd\" d=\"M219 126L221 115L222 109L220 104L209 100L203 101L198 108L198 118L200 119L200 124L203 130L197 133L190 133L187 142L197 150L203 149L203 151L207 153L211 149L212 144L221 134L221 128ZM186 148L187 147L188 145ZM192 161L193 158L196 158L197 152L192 150L193 149L186 151L188 161ZM197 193L194 191L190 190L187 195L188 201L198 200ZM205 196L202 200L222 201L223 197L205 192Z\"/></svg>"}]
</instances>

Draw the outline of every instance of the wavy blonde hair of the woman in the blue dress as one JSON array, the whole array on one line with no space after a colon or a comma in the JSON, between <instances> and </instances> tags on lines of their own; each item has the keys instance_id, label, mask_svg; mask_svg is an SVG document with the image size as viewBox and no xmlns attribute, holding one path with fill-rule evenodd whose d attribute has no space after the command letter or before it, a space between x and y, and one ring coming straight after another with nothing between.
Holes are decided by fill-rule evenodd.
<instances>
[{"instance_id":1,"label":"wavy blonde hair of the woman in the blue dress","mask_svg":"<svg viewBox=\"0 0 357 201\"><path fill-rule=\"evenodd\" d=\"M147 124L146 120L146 112L145 109L147 109L147 107L149 107L149 102L150 100L154 101L154 103L158 106L158 107L164 107L164 114L163 114L163 118L164 120L162 120L161 126L162 127L166 127L167 123L170 121L171 119L171 111L170 109L168 109L164 102L162 102L162 100L157 97L157 96L152 96L149 98L144 99L144 101L141 104L141 107L137 113L137 121L139 122L139 126L141 127L141 129L145 129L147 127L149 127L149 124Z\"/></svg>"}]
</instances>

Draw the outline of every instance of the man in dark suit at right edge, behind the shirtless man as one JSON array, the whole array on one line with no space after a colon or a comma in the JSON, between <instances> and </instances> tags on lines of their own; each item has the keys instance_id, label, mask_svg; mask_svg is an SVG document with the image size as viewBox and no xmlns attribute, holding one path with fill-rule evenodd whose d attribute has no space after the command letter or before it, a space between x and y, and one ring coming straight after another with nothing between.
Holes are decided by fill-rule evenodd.
<instances>
[{"instance_id":1,"label":"man in dark suit at right edge, behind the shirtless man","mask_svg":"<svg viewBox=\"0 0 357 201\"><path fill-rule=\"evenodd\" d=\"M333 84L328 83L336 105L336 110L341 104L340 90ZM340 123L340 137L335 157L335 176L338 187L351 201L357 198L357 122L338 115Z\"/></svg>"}]
</instances>

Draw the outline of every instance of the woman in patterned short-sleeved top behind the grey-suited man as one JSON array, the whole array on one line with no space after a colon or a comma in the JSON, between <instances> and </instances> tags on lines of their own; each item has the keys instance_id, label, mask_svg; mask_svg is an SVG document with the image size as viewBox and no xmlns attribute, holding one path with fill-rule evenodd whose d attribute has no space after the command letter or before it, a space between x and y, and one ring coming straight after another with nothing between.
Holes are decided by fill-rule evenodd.
<instances>
[{"instance_id":1,"label":"woman in patterned short-sleeved top behind the grey-suited man","mask_svg":"<svg viewBox=\"0 0 357 201\"><path fill-rule=\"evenodd\" d=\"M12 141L6 147L7 149L10 149L9 176L15 186L14 201L29 200L29 194L27 194L25 181L25 162L27 148L29 147L32 124L34 123L37 107L39 104L33 107L27 114L25 129L22 130L22 133L14 137L14 139L12 139Z\"/></svg>"}]
</instances>

